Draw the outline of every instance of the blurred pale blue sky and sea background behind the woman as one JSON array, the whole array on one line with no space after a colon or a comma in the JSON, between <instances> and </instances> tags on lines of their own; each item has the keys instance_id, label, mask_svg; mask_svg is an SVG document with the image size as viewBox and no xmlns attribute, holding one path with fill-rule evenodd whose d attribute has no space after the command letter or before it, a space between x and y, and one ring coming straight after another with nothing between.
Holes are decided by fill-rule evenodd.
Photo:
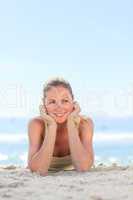
<instances>
[{"instance_id":1,"label":"blurred pale blue sky and sea background behind the woman","mask_svg":"<svg viewBox=\"0 0 133 200\"><path fill-rule=\"evenodd\" d=\"M0 165L26 166L43 84L71 83L95 164L133 163L133 2L0 1Z\"/></svg>"}]
</instances>

